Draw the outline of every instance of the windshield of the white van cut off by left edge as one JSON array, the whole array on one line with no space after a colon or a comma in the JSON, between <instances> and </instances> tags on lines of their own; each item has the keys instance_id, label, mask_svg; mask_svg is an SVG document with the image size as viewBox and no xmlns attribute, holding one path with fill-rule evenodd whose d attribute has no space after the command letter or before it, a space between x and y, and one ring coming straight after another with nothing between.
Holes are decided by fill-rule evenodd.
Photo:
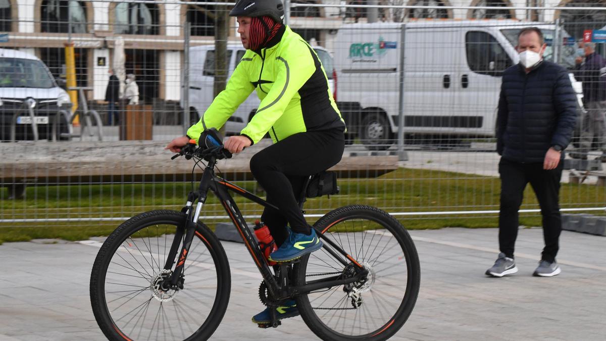
<instances>
[{"instance_id":1,"label":"windshield of the white van cut off by left edge","mask_svg":"<svg viewBox=\"0 0 606 341\"><path fill-rule=\"evenodd\" d=\"M0 87L50 89L55 86L55 80L41 61L0 58Z\"/></svg>"}]
</instances>

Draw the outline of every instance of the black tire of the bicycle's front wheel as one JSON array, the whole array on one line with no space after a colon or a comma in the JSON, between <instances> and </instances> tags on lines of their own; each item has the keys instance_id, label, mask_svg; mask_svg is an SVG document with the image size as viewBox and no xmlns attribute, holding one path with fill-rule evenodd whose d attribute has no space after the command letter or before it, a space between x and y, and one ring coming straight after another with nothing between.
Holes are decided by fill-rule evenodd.
<instances>
[{"instance_id":1,"label":"black tire of the bicycle's front wheel","mask_svg":"<svg viewBox=\"0 0 606 341\"><path fill-rule=\"evenodd\" d=\"M122 241L134 232L144 228L144 226L157 222L179 224L184 222L185 217L185 214L182 212L169 210L148 211L138 214L118 226L99 249L90 277L90 300L99 328L101 328L101 331L108 340L131 340L115 326L105 304L105 271L107 271L113 254L122 244ZM215 302L208 314L208 318L186 340L207 340L218 328L227 310L231 291L231 274L227 254L225 254L225 250L215 234L202 223L198 223L196 231L210 245L209 252L212 255L213 262L215 262L216 269L218 269L217 279L221 285L218 285Z\"/></svg>"}]
</instances>

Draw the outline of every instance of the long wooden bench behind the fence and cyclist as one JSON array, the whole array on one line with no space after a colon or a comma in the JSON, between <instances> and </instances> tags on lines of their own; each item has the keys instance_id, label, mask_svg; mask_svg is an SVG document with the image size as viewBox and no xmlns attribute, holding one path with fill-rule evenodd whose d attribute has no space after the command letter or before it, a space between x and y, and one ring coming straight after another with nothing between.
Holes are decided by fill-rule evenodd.
<instances>
[{"instance_id":1,"label":"long wooden bench behind the fence and cyclist","mask_svg":"<svg viewBox=\"0 0 606 341\"><path fill-rule=\"evenodd\" d=\"M262 141L229 160L218 169L227 180L253 180L250 158L270 142ZM11 197L20 197L25 186L164 183L191 181L193 161L178 158L156 141L32 142L0 144L0 186ZM398 169L396 156L343 157L331 170L340 178L371 178ZM201 169L195 174L201 174Z\"/></svg>"}]
</instances>

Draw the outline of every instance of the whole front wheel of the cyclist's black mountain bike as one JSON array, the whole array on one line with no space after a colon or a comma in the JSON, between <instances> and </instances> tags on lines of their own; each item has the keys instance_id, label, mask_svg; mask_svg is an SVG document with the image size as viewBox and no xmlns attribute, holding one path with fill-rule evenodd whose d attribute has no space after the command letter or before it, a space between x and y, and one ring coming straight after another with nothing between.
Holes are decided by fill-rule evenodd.
<instances>
[{"instance_id":1,"label":"whole front wheel of the cyclist's black mountain bike","mask_svg":"<svg viewBox=\"0 0 606 341\"><path fill-rule=\"evenodd\" d=\"M221 243L207 226L196 226L184 265L184 288L159 288L172 274L164 265L185 218L177 211L136 215L99 249L90 300L108 339L205 340L221 323L230 295L230 270ZM177 255L180 251L181 246Z\"/></svg>"}]
</instances>

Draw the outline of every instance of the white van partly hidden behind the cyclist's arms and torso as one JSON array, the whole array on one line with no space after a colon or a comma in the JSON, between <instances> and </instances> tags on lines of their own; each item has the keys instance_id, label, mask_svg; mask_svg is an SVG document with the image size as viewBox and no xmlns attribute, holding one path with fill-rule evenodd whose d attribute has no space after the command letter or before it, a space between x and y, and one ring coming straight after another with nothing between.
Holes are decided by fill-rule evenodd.
<instances>
[{"instance_id":1,"label":"white van partly hidden behind the cyclist's arms and torso","mask_svg":"<svg viewBox=\"0 0 606 341\"><path fill-rule=\"evenodd\" d=\"M336 72L333 69L333 58L323 47L312 46L318 53L318 57L327 72L328 85L335 89ZM246 50L242 44L228 44L227 66L228 78L236 69L236 66L244 56ZM190 48L190 72L189 72L189 104L192 123L196 123L204 114L210 103L213 102L213 84L215 81L215 46L195 46ZM181 103L183 107L184 104ZM225 123L225 135L238 134L250 119L255 115L259 107L259 98L255 92L248 96L244 103L240 104L238 110Z\"/></svg>"}]
</instances>

